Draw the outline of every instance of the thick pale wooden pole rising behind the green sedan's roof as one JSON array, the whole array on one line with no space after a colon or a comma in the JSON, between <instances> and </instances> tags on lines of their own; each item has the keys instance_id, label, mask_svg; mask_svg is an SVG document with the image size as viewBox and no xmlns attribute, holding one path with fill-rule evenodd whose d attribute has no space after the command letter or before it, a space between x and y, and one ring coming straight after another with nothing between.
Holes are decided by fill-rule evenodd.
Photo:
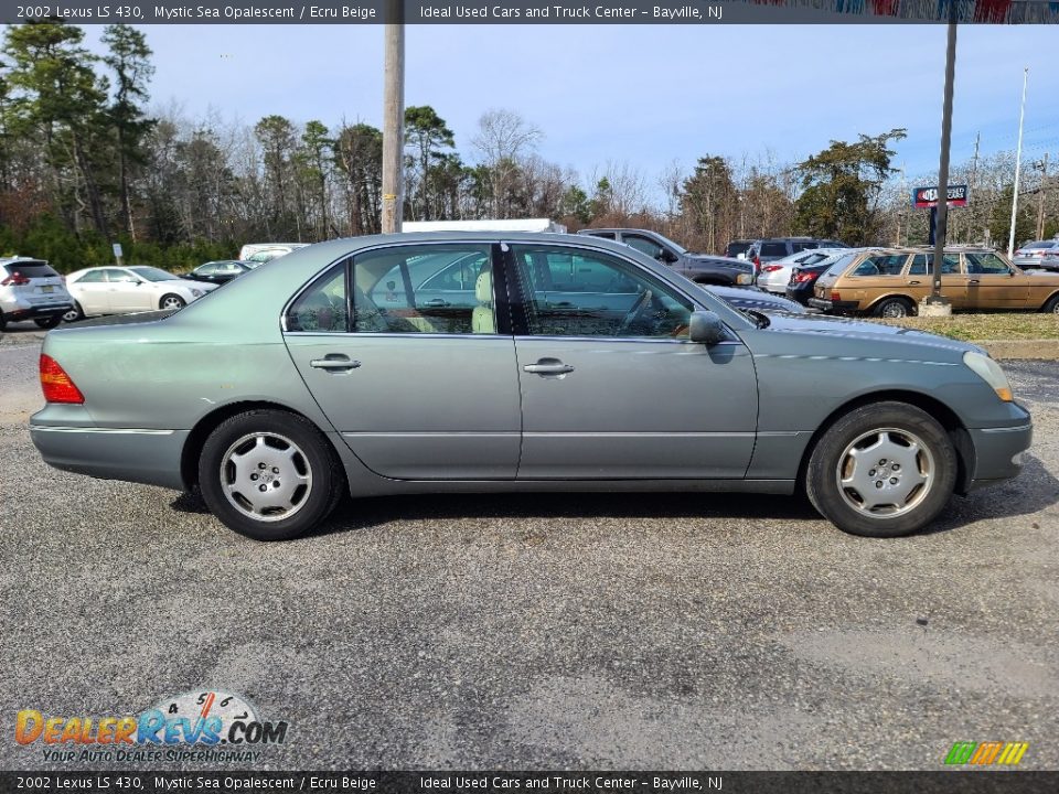
<instances>
[{"instance_id":1,"label":"thick pale wooden pole rising behind the green sedan's roof","mask_svg":"<svg viewBox=\"0 0 1059 794\"><path fill-rule=\"evenodd\" d=\"M400 232L404 217L405 17L402 0L387 0L383 68L383 234Z\"/></svg>"}]
</instances>

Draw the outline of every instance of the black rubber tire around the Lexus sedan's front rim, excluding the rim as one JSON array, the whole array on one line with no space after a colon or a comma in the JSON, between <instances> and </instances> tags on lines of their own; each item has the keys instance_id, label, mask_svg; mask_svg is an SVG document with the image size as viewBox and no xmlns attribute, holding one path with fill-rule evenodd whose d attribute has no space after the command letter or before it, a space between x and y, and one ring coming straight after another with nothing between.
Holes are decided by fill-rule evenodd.
<instances>
[{"instance_id":1,"label":"black rubber tire around the Lexus sedan's front rim, excluding the rim","mask_svg":"<svg viewBox=\"0 0 1059 794\"><path fill-rule=\"evenodd\" d=\"M873 429L897 428L914 433L930 447L934 480L914 508L892 518L873 518L843 498L835 470L846 447ZM843 532L866 537L900 537L922 529L948 504L956 482L956 452L944 428L929 414L905 403L875 403L839 417L820 439L805 473L805 492L813 506Z\"/></svg>"}]
</instances>

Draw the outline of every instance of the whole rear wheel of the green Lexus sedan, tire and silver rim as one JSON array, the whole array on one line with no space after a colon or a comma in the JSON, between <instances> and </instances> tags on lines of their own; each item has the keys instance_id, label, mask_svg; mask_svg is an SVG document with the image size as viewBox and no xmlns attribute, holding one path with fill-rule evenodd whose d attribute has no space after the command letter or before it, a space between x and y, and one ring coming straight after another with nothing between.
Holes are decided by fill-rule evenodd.
<instances>
[{"instance_id":1,"label":"whole rear wheel of the green Lexus sedan, tire and silver rim","mask_svg":"<svg viewBox=\"0 0 1059 794\"><path fill-rule=\"evenodd\" d=\"M330 515L345 475L312 422L258 409L210 433L199 459L199 487L210 512L240 535L288 540Z\"/></svg>"}]
</instances>

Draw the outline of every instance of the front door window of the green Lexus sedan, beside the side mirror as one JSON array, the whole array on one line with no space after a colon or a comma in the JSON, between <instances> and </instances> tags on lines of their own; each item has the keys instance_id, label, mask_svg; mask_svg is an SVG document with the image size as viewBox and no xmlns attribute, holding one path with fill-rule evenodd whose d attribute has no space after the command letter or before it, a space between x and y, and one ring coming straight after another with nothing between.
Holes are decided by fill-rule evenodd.
<instances>
[{"instance_id":1,"label":"front door window of the green Lexus sedan, beside the side mirror","mask_svg":"<svg viewBox=\"0 0 1059 794\"><path fill-rule=\"evenodd\" d=\"M531 334L687 337L691 303L635 266L566 246L511 248Z\"/></svg>"}]
</instances>

